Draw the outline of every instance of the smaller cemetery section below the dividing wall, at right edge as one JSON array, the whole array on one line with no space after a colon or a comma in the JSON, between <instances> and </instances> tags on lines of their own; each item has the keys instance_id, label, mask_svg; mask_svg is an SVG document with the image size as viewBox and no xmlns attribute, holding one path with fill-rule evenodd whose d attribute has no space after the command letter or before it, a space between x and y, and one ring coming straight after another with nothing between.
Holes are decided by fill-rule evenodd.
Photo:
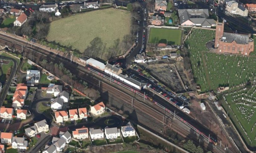
<instances>
[{"instance_id":1,"label":"smaller cemetery section below the dividing wall, at right edge","mask_svg":"<svg viewBox=\"0 0 256 153\"><path fill-rule=\"evenodd\" d=\"M247 142L247 144L252 147L256 146L256 128L254 127L254 125L256 124L256 103L246 101L245 98L256 101L255 91L256 87L252 87L249 90L237 91L236 93L226 95L225 98L227 102L222 102L222 105L224 106L226 111L227 105L230 106L228 109L229 117L232 119L232 122L235 124L238 131L240 131L241 137ZM246 96L245 94L247 94L248 96ZM242 99L242 97L244 98L244 100ZM253 127L254 129L252 130ZM246 131L247 135L245 134L243 129ZM249 139L252 141L251 143Z\"/></svg>"}]
</instances>

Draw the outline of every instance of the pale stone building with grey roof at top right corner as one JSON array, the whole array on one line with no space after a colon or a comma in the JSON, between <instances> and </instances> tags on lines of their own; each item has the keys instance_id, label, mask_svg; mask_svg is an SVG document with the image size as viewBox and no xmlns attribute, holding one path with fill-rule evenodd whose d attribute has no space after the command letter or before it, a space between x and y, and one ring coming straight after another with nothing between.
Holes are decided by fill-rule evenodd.
<instances>
[{"instance_id":1,"label":"pale stone building with grey roof at top right corner","mask_svg":"<svg viewBox=\"0 0 256 153\"><path fill-rule=\"evenodd\" d=\"M248 16L248 10L245 7L239 5L238 2L234 0L226 2L226 11L240 16Z\"/></svg>"}]
</instances>

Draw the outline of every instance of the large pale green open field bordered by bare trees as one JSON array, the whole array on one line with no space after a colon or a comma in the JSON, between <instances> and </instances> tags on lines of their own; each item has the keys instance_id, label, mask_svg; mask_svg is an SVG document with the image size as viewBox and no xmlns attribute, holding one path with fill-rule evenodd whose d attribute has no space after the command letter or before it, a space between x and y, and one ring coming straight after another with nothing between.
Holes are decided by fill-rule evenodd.
<instances>
[{"instance_id":1,"label":"large pale green open field bordered by bare trees","mask_svg":"<svg viewBox=\"0 0 256 153\"><path fill-rule=\"evenodd\" d=\"M114 40L119 38L121 41L130 34L130 26L129 12L105 9L79 13L51 22L47 40L84 52L94 38L100 37L106 48L109 48L114 45Z\"/></svg>"}]
</instances>

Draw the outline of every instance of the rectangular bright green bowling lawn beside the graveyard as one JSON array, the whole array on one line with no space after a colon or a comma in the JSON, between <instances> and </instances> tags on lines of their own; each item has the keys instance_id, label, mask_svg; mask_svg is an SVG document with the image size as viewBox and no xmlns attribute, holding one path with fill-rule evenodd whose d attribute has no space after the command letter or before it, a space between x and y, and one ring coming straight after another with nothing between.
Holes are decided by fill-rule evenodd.
<instances>
[{"instance_id":1,"label":"rectangular bright green bowling lawn beside the graveyard","mask_svg":"<svg viewBox=\"0 0 256 153\"><path fill-rule=\"evenodd\" d=\"M169 22L169 21L168 21ZM181 30L165 29L165 28L151 28L149 34L149 44L158 44L160 42L168 44L180 45Z\"/></svg>"}]
</instances>

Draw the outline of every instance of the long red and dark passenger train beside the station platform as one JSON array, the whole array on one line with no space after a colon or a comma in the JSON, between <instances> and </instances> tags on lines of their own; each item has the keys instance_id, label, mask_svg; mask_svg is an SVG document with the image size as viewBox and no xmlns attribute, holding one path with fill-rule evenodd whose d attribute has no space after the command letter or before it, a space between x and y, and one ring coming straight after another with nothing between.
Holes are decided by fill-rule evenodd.
<instances>
[{"instance_id":1,"label":"long red and dark passenger train beside the station platform","mask_svg":"<svg viewBox=\"0 0 256 153\"><path fill-rule=\"evenodd\" d=\"M145 95L144 93L134 89L133 87L130 87L129 85L126 85L122 82L119 82L113 78L111 78L108 74L105 74L105 73L102 73L102 72L99 72L98 70L95 70L93 68L90 68L89 66L85 66L85 68L91 72L94 72L98 75L100 75L101 77L104 77L106 79L108 79L110 81L111 79L111 82L113 83L116 83L122 87L125 87L126 89L128 90L131 90L132 92L144 97L145 96L145 99L149 99L150 101L152 101L152 103L154 103L155 105L161 107L162 109L164 109L166 112L170 113L171 115L174 115L174 112L170 111L169 109L165 108L164 106L160 105L159 103L157 103L156 101L154 101L151 97ZM193 129L194 131L196 131L199 135L203 136L205 139L209 139L209 142L213 143L214 145L217 145L217 140L211 136L207 136L205 133L201 132L200 130L196 129L193 125L191 125L189 122L187 122L186 120L184 120L183 118L179 117L178 115L175 115L176 118L178 118L180 121L182 121L183 123L185 123L188 127L190 127L191 129Z\"/></svg>"}]
</instances>

